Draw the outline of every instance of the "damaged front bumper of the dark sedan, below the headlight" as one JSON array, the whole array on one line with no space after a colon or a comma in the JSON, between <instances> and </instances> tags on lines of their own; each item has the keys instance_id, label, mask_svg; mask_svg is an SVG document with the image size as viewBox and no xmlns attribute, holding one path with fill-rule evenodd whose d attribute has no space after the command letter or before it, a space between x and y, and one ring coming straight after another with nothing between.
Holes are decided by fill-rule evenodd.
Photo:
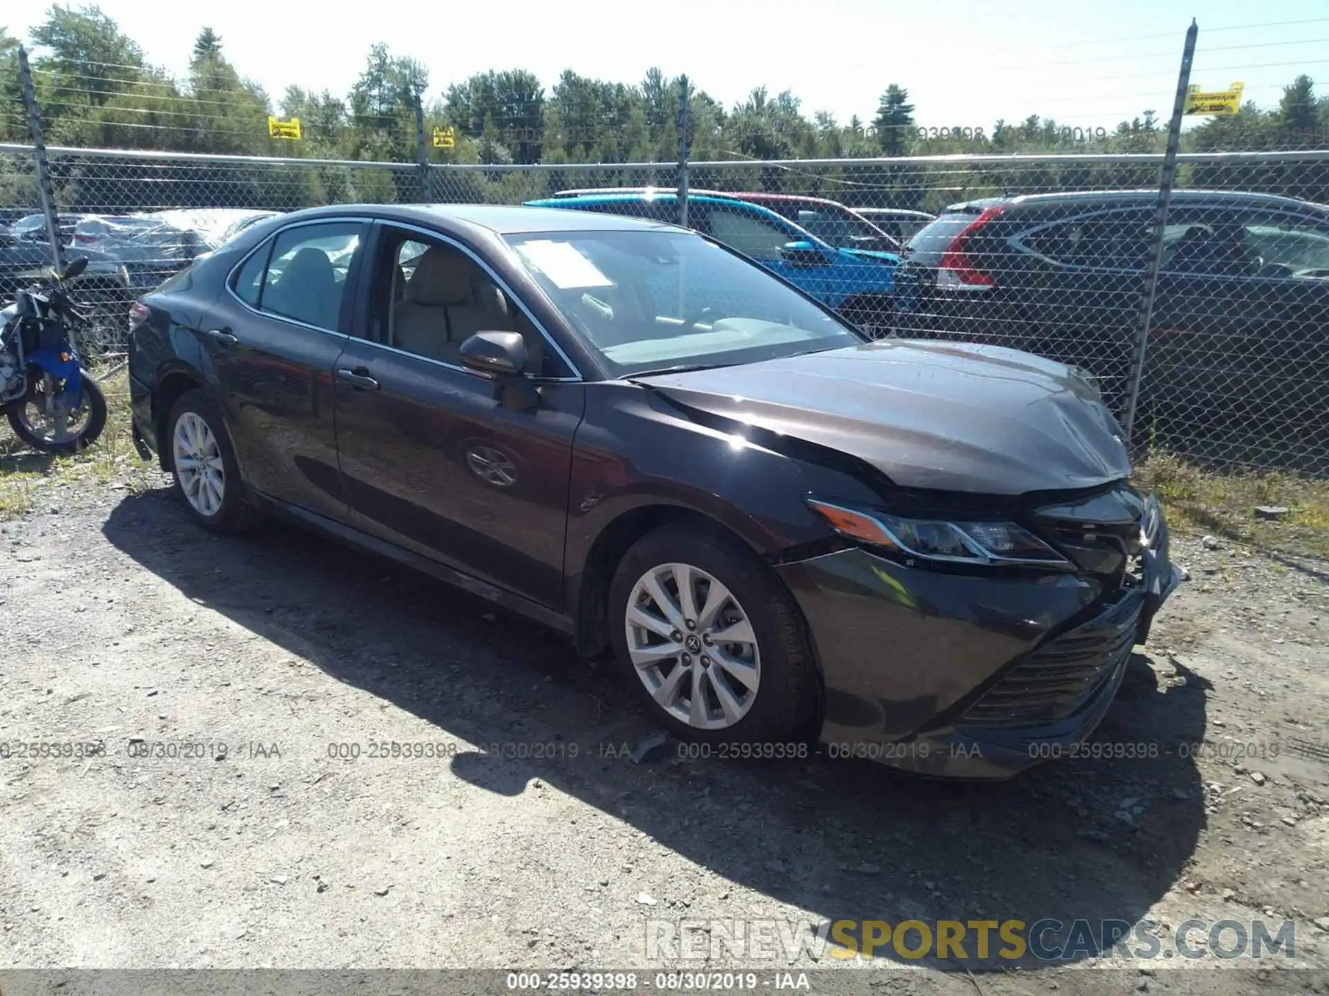
<instances>
[{"instance_id":1,"label":"damaged front bumper of the dark sedan, below the headlight","mask_svg":"<svg viewBox=\"0 0 1329 996\"><path fill-rule=\"evenodd\" d=\"M1143 580L1116 591L1079 574L944 574L857 547L780 566L821 667L824 750L962 778L1069 753L1180 580L1162 515L1147 530Z\"/></svg>"}]
</instances>

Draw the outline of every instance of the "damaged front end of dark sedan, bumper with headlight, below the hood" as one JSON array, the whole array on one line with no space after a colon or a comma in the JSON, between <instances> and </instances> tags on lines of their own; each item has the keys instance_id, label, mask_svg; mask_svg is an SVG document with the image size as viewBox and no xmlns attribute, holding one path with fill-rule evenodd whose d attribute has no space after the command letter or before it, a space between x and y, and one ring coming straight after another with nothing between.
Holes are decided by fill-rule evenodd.
<instances>
[{"instance_id":1,"label":"damaged front end of dark sedan, bumper with headlight, below the hood","mask_svg":"<svg viewBox=\"0 0 1329 996\"><path fill-rule=\"evenodd\" d=\"M1180 580L1124 481L1001 518L977 495L928 518L808 503L847 540L776 567L823 664L821 738L925 774L1003 778L1084 740Z\"/></svg>"}]
</instances>

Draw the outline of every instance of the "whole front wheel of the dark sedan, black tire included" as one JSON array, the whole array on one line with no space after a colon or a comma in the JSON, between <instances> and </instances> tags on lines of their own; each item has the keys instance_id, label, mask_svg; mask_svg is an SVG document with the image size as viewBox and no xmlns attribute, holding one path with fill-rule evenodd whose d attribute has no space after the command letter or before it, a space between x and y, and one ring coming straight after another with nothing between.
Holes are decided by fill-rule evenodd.
<instances>
[{"instance_id":1,"label":"whole front wheel of the dark sedan, black tire included","mask_svg":"<svg viewBox=\"0 0 1329 996\"><path fill-rule=\"evenodd\" d=\"M609 620L627 681L680 738L775 742L816 710L797 606L769 567L719 530L675 523L637 540L610 584Z\"/></svg>"}]
</instances>

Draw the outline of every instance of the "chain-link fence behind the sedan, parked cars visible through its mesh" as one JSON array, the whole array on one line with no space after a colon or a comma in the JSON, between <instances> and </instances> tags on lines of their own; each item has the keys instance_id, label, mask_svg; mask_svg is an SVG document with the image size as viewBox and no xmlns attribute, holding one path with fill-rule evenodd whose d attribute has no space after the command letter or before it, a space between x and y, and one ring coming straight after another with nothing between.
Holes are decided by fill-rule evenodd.
<instances>
[{"instance_id":1,"label":"chain-link fence behind the sedan, parked cars visible through its mesh","mask_svg":"<svg viewBox=\"0 0 1329 996\"><path fill-rule=\"evenodd\" d=\"M1071 363L1124 417L1163 157L957 154L682 170L64 147L48 158L66 252L93 260L84 278L97 315L90 352L122 352L134 297L274 211L542 202L686 223L874 336L979 341ZM37 203L32 150L0 146L9 288L49 264ZM1179 157L1136 448L1207 465L1329 471L1324 203L1329 151Z\"/></svg>"}]
</instances>

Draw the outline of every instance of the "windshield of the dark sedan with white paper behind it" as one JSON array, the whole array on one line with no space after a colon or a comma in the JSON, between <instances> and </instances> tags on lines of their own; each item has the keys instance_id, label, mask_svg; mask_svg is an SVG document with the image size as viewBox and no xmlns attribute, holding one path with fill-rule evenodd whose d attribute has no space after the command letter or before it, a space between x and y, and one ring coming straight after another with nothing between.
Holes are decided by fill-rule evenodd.
<instances>
[{"instance_id":1,"label":"windshield of the dark sedan with white paper behind it","mask_svg":"<svg viewBox=\"0 0 1329 996\"><path fill-rule=\"evenodd\" d=\"M617 376L861 341L760 267L696 235L540 232L509 243Z\"/></svg>"}]
</instances>

